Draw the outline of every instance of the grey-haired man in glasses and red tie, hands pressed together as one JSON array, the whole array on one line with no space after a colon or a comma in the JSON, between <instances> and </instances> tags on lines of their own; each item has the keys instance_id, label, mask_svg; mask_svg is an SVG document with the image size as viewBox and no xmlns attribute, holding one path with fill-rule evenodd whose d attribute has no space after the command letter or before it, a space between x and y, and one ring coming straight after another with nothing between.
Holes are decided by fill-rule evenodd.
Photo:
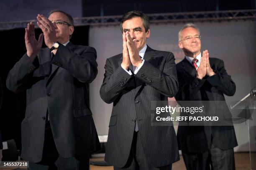
<instances>
[{"instance_id":1,"label":"grey-haired man in glasses and red tie, hands pressed together","mask_svg":"<svg viewBox=\"0 0 256 170\"><path fill-rule=\"evenodd\" d=\"M205 113L230 121L230 126L179 126L177 139L187 170L235 170L233 148L238 144L223 94L233 96L236 85L222 60L209 58L207 50L201 53L200 31L194 24L179 31L179 48L185 58L177 64L176 100L210 101L213 107L206 107Z\"/></svg>"}]
</instances>

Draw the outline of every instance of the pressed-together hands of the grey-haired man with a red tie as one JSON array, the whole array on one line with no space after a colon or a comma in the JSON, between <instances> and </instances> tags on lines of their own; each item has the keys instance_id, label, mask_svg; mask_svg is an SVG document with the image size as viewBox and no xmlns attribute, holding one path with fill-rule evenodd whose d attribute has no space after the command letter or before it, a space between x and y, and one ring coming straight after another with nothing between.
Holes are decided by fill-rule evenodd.
<instances>
[{"instance_id":1,"label":"pressed-together hands of the grey-haired man with a red tie","mask_svg":"<svg viewBox=\"0 0 256 170\"><path fill-rule=\"evenodd\" d=\"M215 73L213 72L213 70L210 66L208 50L203 51L200 66L197 69L197 78L198 79L204 78L205 75L207 75L207 76L215 75Z\"/></svg>"}]
</instances>

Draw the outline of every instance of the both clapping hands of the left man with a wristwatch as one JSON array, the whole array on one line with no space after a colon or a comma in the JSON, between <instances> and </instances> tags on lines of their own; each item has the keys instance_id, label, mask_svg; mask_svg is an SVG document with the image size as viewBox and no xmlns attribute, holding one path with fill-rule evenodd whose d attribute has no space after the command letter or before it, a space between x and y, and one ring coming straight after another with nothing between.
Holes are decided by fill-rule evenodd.
<instances>
[{"instance_id":1,"label":"both clapping hands of the left man with a wristwatch","mask_svg":"<svg viewBox=\"0 0 256 170\"><path fill-rule=\"evenodd\" d=\"M36 40L35 25L32 22L28 23L27 28L25 28L27 55L31 60L33 60L40 51L43 39L48 48L51 48L52 44L57 41L54 24L48 18L44 17L44 15L38 14L36 19L38 27L43 31L38 40ZM55 53L56 50L52 52Z\"/></svg>"}]
</instances>

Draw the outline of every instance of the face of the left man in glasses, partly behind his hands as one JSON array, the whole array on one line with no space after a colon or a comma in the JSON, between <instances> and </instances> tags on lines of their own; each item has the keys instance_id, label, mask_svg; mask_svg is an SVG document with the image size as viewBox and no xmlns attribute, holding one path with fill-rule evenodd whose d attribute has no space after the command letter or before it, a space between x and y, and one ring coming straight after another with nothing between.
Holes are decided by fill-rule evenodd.
<instances>
[{"instance_id":1,"label":"face of the left man in glasses, partly behind his hands","mask_svg":"<svg viewBox=\"0 0 256 170\"><path fill-rule=\"evenodd\" d=\"M65 21L69 23L67 16L64 13L55 12L52 13L49 18L50 21ZM56 31L57 41L60 43L67 43L69 41L69 36L74 32L73 26L68 26L67 24L54 23L54 28Z\"/></svg>"}]
</instances>

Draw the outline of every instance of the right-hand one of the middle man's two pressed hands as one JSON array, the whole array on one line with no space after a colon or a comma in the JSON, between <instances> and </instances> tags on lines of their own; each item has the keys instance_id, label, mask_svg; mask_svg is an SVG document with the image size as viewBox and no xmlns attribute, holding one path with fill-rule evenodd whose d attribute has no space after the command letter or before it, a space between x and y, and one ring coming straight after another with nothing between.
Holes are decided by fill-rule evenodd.
<instances>
[{"instance_id":1,"label":"right-hand one of the middle man's two pressed hands","mask_svg":"<svg viewBox=\"0 0 256 170\"><path fill-rule=\"evenodd\" d=\"M131 35L128 31L126 32L126 40L127 40L126 44L127 44L131 64L133 66L138 67L142 63L142 60L141 60L141 57L139 55L136 44L134 43L134 41L136 41L136 40L133 40L131 38Z\"/></svg>"}]
</instances>

